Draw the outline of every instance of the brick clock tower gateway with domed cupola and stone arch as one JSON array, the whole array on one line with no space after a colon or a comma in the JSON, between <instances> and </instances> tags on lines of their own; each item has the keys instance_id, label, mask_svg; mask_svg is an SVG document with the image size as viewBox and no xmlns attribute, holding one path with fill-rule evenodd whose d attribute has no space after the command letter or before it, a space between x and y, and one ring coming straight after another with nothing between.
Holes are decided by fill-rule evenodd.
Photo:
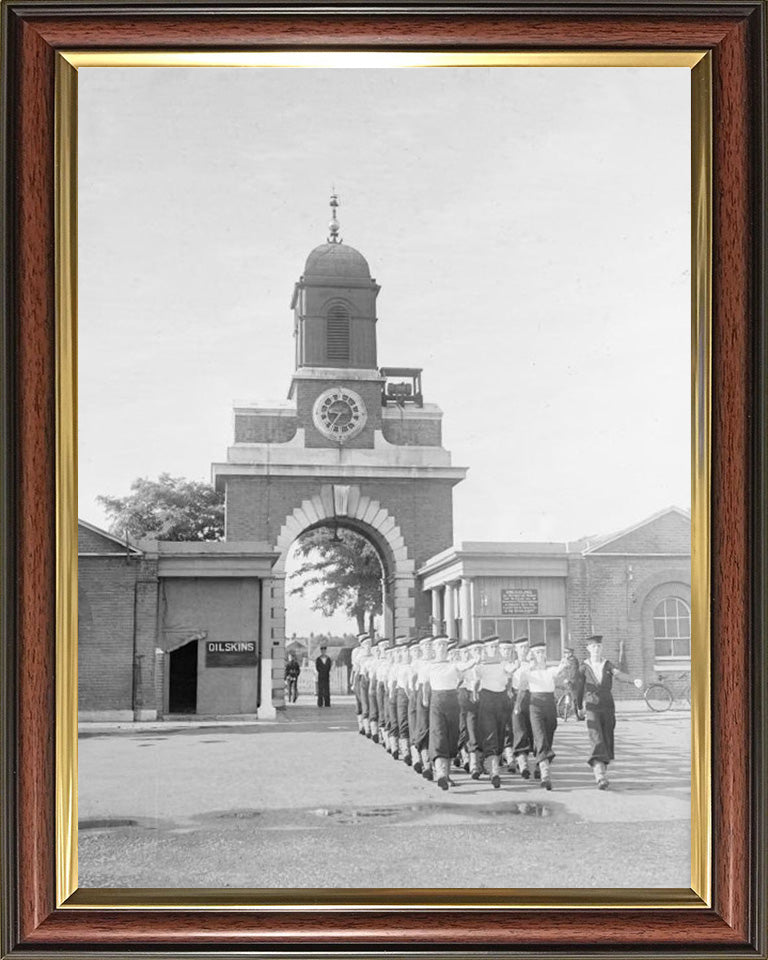
<instances>
[{"instance_id":1,"label":"brick clock tower gateway with domed cupola and stone arch","mask_svg":"<svg viewBox=\"0 0 768 960\"><path fill-rule=\"evenodd\" d=\"M262 586L262 713L268 695L283 701L285 560L296 538L321 525L364 534L385 569L386 632L428 629L416 570L451 546L453 487L466 474L443 449L442 411L424 402L421 369L377 365L380 288L341 242L337 206L334 196L328 241L294 287L288 403L236 406L234 443L213 465L226 540L278 552Z\"/></svg>"}]
</instances>

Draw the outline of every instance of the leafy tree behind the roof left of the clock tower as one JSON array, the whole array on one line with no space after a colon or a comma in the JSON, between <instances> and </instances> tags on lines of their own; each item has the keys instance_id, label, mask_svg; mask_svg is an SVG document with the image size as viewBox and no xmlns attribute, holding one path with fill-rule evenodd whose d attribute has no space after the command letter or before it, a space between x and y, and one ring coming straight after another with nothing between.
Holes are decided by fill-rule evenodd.
<instances>
[{"instance_id":1,"label":"leafy tree behind the roof left of the clock tower","mask_svg":"<svg viewBox=\"0 0 768 960\"><path fill-rule=\"evenodd\" d=\"M151 540L221 540L224 497L208 483L161 473L139 477L127 497L97 497L120 536Z\"/></svg>"}]
</instances>

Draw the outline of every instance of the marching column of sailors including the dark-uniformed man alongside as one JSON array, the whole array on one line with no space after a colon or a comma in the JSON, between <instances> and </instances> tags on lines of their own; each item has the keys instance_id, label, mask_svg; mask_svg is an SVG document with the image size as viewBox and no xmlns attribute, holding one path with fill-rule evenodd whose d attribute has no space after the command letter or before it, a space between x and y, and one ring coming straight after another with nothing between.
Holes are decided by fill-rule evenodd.
<instances>
[{"instance_id":1,"label":"marching column of sailors including the dark-uniformed man alongside","mask_svg":"<svg viewBox=\"0 0 768 960\"><path fill-rule=\"evenodd\" d=\"M358 636L352 683L358 732L442 790L451 765L472 779L487 773L501 787L501 767L552 789L557 729L555 687L567 659L546 662L543 643L497 636L460 646L445 636L373 640ZM608 787L616 723L613 679L627 676L602 658L602 637L587 638L589 657L576 676L575 699L592 747L587 763L599 789Z\"/></svg>"}]
</instances>

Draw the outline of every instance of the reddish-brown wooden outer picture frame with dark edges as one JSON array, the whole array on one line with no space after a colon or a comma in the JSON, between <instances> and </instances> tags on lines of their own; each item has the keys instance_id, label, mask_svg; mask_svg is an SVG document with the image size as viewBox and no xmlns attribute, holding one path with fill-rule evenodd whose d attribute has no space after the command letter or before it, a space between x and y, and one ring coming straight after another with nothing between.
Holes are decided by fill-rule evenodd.
<instances>
[{"instance_id":1,"label":"reddish-brown wooden outer picture frame with dark edges","mask_svg":"<svg viewBox=\"0 0 768 960\"><path fill-rule=\"evenodd\" d=\"M66 0L7 2L3 15L5 180L2 596L3 956L768 955L766 937L765 17L762 2L356 2L230 7ZM696 50L712 79L711 904L557 910L456 901L383 908L270 902L210 909L173 894L151 905L59 905L62 805L57 710L72 697L56 660L62 584L56 470L57 297L62 270L54 162L62 50ZM59 77L59 84L62 78ZM59 91L61 87L59 86ZM708 218L707 218L708 219ZM58 251L57 256L57 241ZM69 278L71 279L71 278ZM709 290L701 291L708 308ZM61 304L58 304L61 309ZM60 332L60 331L59 331ZM66 344L64 345L66 349ZM705 405L706 406L706 405ZM695 421L697 429L706 424ZM71 451L74 455L73 451ZM696 481L695 481L696 482ZM58 533L58 536L57 536ZM71 614L71 611L70 611ZM57 754L57 750L59 753ZM74 791L74 782L66 789ZM57 869L59 876L57 876ZM114 898L117 900L119 898ZM544 901L546 898L542 898ZM691 909L695 906L696 909Z\"/></svg>"}]
</instances>

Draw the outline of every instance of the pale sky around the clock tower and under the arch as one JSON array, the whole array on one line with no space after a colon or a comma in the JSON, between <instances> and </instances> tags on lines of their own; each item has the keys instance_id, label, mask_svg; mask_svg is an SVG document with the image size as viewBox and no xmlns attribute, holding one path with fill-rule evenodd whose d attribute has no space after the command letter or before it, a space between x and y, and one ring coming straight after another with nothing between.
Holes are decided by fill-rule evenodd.
<instances>
[{"instance_id":1,"label":"pale sky around the clock tower and under the arch","mask_svg":"<svg viewBox=\"0 0 768 960\"><path fill-rule=\"evenodd\" d=\"M79 70L79 501L210 479L286 398L294 282L344 242L424 368L462 540L690 506L686 68ZM308 604L288 632L343 630Z\"/></svg>"}]
</instances>

